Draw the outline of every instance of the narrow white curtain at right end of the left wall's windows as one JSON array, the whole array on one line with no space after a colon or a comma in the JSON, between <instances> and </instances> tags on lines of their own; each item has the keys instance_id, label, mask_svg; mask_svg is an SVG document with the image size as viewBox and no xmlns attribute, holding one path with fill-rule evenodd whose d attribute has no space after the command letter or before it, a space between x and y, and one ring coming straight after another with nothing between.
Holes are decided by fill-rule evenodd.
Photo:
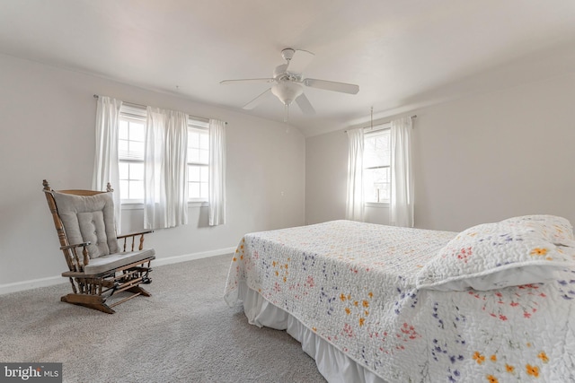
<instances>
[{"instance_id":1,"label":"narrow white curtain at right end of the left wall's windows","mask_svg":"<svg viewBox=\"0 0 575 383\"><path fill-rule=\"evenodd\" d=\"M226 123L209 120L209 225L226 223Z\"/></svg>"}]
</instances>

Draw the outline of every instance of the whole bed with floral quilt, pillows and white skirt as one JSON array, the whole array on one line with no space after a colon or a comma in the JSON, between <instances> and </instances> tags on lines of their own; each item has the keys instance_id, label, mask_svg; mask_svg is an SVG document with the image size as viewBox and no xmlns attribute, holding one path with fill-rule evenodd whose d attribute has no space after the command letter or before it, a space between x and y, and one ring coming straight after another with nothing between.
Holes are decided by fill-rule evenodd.
<instances>
[{"instance_id":1,"label":"whole bed with floral quilt, pillows and white skirt","mask_svg":"<svg viewBox=\"0 0 575 383\"><path fill-rule=\"evenodd\" d=\"M460 233L324 222L246 234L224 298L330 382L575 381L574 259L550 215Z\"/></svg>"}]
</instances>

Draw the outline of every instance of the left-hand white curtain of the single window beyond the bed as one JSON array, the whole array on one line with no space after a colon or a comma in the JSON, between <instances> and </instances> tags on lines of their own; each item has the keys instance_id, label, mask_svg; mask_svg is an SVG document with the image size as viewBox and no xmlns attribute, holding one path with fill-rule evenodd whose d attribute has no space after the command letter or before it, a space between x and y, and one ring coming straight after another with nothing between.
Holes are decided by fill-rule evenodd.
<instances>
[{"instance_id":1,"label":"left-hand white curtain of the single window beyond the bed","mask_svg":"<svg viewBox=\"0 0 575 383\"><path fill-rule=\"evenodd\" d=\"M346 220L364 221L363 128L348 130L348 196Z\"/></svg>"}]
</instances>

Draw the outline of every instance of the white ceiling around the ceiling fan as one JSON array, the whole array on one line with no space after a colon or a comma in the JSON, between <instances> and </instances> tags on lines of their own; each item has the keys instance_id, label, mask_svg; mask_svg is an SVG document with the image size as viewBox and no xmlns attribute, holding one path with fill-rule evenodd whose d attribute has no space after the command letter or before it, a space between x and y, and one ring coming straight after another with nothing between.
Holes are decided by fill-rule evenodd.
<instances>
[{"instance_id":1,"label":"white ceiling around the ceiling fan","mask_svg":"<svg viewBox=\"0 0 575 383\"><path fill-rule=\"evenodd\" d=\"M2 0L0 52L282 121L269 84L283 48L314 53L305 135L575 69L573 0Z\"/></svg>"}]
</instances>

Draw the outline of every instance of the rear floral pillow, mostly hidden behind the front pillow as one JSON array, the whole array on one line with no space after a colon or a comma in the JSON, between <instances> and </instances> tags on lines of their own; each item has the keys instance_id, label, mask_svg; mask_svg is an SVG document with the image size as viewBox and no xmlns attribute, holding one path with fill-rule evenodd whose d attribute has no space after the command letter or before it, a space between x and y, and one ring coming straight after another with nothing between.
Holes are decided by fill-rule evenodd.
<instances>
[{"instance_id":1,"label":"rear floral pillow, mostly hidden behind the front pillow","mask_svg":"<svg viewBox=\"0 0 575 383\"><path fill-rule=\"evenodd\" d=\"M573 236L573 226L566 218L555 215L535 214L513 217L501 222L518 223L531 226L542 231L546 239L555 245L575 247L575 237Z\"/></svg>"}]
</instances>

